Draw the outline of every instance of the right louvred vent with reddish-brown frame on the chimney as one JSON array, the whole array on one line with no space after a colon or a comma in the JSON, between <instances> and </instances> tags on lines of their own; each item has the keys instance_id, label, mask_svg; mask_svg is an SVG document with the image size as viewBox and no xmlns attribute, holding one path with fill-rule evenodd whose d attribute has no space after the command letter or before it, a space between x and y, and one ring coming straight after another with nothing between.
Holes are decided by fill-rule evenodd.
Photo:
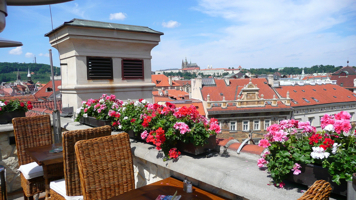
<instances>
[{"instance_id":1,"label":"right louvred vent with reddish-brown frame on the chimney","mask_svg":"<svg viewBox=\"0 0 356 200\"><path fill-rule=\"evenodd\" d=\"M122 59L121 77L122 79L145 79L143 72L143 60Z\"/></svg>"}]
</instances>

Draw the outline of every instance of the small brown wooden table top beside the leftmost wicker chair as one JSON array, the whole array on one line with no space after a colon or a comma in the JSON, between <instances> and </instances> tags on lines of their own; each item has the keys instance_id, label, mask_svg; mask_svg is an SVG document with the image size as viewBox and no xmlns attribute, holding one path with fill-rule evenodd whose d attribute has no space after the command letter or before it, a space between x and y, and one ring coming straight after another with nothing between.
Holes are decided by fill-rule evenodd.
<instances>
[{"instance_id":1,"label":"small brown wooden table top beside the leftmost wicker chair","mask_svg":"<svg viewBox=\"0 0 356 200\"><path fill-rule=\"evenodd\" d=\"M25 148L26 153L33 159L35 162L42 166L46 164L54 164L63 162L63 151L59 153L49 153L54 146L62 146L63 144L48 144L37 147Z\"/></svg>"}]
</instances>

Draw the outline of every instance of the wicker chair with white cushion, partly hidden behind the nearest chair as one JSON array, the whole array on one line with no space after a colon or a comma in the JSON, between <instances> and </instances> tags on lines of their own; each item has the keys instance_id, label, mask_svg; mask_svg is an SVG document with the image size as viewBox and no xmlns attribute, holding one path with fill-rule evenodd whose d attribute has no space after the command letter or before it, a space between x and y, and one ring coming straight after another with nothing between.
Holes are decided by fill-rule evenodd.
<instances>
[{"instance_id":1,"label":"wicker chair with white cushion, partly hidden behind the nearest chair","mask_svg":"<svg viewBox=\"0 0 356 200\"><path fill-rule=\"evenodd\" d=\"M81 199L82 186L80 184L77 157L74 145L80 140L110 136L111 127L102 126L83 130L66 131L63 133L64 179L51 182L51 200ZM65 188L64 188L65 187Z\"/></svg>"}]
</instances>

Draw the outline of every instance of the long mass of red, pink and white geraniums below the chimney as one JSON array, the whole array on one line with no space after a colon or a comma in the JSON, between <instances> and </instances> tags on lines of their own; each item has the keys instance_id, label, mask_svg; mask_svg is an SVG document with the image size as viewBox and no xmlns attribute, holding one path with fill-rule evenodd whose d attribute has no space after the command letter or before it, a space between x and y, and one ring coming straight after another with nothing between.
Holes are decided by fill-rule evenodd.
<instances>
[{"instance_id":1,"label":"long mass of red, pink and white geraniums below the chimney","mask_svg":"<svg viewBox=\"0 0 356 200\"><path fill-rule=\"evenodd\" d=\"M81 117L94 117L110 120L116 130L133 130L137 137L162 150L164 160L179 157L180 152L175 148L177 141L198 146L208 143L210 135L220 132L217 120L206 119L193 105L176 107L169 102L158 105L144 99L123 102L115 95L103 94L99 99L83 101L77 114L74 121L79 122Z\"/></svg>"}]
</instances>

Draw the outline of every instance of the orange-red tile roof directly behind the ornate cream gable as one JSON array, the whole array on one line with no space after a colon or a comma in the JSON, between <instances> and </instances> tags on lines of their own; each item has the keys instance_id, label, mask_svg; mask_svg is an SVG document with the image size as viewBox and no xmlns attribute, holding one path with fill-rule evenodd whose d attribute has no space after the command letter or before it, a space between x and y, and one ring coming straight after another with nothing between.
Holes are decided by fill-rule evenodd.
<instances>
[{"instance_id":1,"label":"orange-red tile roof directly behind the ornate cream gable","mask_svg":"<svg viewBox=\"0 0 356 200\"><path fill-rule=\"evenodd\" d=\"M205 101L208 94L210 95L210 101L222 101L224 96L227 101L236 100L241 89L249 82L249 79L230 79L230 86L227 86L225 80L215 79L216 86L203 86L201 94ZM277 94L267 84L268 81L265 78L254 78L251 79L251 82L255 85L257 84L257 87L260 88L259 95L263 94L263 98L272 99L273 95L276 95L277 98ZM223 95L220 95L220 93L223 93Z\"/></svg>"}]
</instances>

